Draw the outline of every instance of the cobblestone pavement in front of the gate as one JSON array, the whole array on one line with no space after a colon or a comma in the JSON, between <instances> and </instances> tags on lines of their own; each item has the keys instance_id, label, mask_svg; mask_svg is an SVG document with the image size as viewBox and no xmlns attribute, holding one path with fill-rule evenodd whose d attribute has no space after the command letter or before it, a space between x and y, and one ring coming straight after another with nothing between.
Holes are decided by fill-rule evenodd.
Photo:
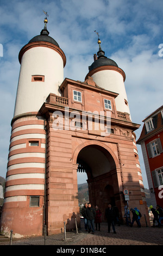
<instances>
[{"instance_id":1,"label":"cobblestone pavement in front of the gate","mask_svg":"<svg viewBox=\"0 0 163 256\"><path fill-rule=\"evenodd\" d=\"M127 227L116 226L116 234L108 233L107 223L101 224L101 231L95 234L85 232L81 222L81 229L66 233L47 236L47 245L56 246L109 246L109 245L163 245L163 227ZM10 239L1 239L0 245L9 245ZM26 239L13 239L12 245L45 245L45 237L30 237Z\"/></svg>"}]
</instances>

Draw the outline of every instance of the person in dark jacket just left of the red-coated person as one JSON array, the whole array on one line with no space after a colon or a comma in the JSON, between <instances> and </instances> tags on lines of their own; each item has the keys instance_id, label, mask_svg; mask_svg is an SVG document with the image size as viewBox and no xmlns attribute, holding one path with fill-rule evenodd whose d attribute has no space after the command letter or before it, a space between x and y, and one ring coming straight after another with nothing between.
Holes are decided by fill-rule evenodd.
<instances>
[{"instance_id":1,"label":"person in dark jacket just left of the red-coated person","mask_svg":"<svg viewBox=\"0 0 163 256\"><path fill-rule=\"evenodd\" d=\"M95 234L95 216L96 216L96 211L91 206L91 203L87 204L87 208L86 208L85 214L86 214L86 218L87 218L87 227L89 228L89 233L90 233L91 227L92 227L92 234Z\"/></svg>"}]
</instances>

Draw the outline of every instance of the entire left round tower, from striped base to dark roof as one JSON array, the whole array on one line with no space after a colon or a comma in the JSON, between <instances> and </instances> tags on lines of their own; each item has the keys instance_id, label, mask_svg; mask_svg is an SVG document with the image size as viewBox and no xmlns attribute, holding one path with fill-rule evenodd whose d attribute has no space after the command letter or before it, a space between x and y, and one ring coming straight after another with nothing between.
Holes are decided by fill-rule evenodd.
<instances>
[{"instance_id":1,"label":"entire left round tower, from striped base to dark roof","mask_svg":"<svg viewBox=\"0 0 163 256\"><path fill-rule=\"evenodd\" d=\"M46 131L39 113L50 93L59 94L66 57L47 31L19 54L20 77L8 156L1 231L14 237L42 235L45 224Z\"/></svg>"}]
</instances>

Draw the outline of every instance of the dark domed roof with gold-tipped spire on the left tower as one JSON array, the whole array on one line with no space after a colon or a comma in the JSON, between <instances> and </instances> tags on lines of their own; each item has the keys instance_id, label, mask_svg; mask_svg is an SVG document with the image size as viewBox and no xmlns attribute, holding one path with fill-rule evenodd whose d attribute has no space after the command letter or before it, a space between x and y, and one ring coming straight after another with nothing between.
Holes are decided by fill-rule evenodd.
<instances>
[{"instance_id":1,"label":"dark domed roof with gold-tipped spire on the left tower","mask_svg":"<svg viewBox=\"0 0 163 256\"><path fill-rule=\"evenodd\" d=\"M32 38L28 44L30 44L30 42L39 42L39 41L43 41L43 42L51 42L51 44L56 45L59 47L57 41L55 41L51 36L49 36L49 32L47 30L47 19L44 20L45 26L42 29L40 35L36 35L34 36L34 38Z\"/></svg>"}]
</instances>

